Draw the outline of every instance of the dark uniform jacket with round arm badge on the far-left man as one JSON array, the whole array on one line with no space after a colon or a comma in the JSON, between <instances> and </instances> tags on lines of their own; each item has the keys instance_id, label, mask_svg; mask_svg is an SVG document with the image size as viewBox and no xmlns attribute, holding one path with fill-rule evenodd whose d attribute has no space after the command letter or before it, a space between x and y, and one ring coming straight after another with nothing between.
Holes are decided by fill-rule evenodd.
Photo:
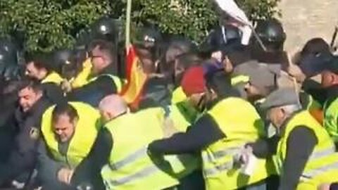
<instances>
[{"instance_id":1,"label":"dark uniform jacket with round arm badge on the far-left man","mask_svg":"<svg viewBox=\"0 0 338 190\"><path fill-rule=\"evenodd\" d=\"M15 112L15 122L18 127L13 141L13 148L6 163L0 163L0 184L15 179L19 175L27 175L35 167L37 140L41 118L44 110L51 103L41 98L26 113L18 108Z\"/></svg>"}]
</instances>

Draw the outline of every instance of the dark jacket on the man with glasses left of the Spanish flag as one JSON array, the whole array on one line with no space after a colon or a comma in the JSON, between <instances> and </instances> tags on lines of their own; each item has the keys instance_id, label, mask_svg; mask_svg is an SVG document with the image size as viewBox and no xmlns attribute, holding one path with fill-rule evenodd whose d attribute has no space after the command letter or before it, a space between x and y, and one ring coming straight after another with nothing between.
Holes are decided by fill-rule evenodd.
<instances>
[{"instance_id":1,"label":"dark jacket on the man with glasses left of the Spanish flag","mask_svg":"<svg viewBox=\"0 0 338 190\"><path fill-rule=\"evenodd\" d=\"M113 75L113 66L109 65L99 75ZM118 88L111 77L99 76L98 79L84 85L78 89L74 89L68 94L68 101L83 101L91 106L97 107L101 99L109 94L116 94Z\"/></svg>"}]
</instances>

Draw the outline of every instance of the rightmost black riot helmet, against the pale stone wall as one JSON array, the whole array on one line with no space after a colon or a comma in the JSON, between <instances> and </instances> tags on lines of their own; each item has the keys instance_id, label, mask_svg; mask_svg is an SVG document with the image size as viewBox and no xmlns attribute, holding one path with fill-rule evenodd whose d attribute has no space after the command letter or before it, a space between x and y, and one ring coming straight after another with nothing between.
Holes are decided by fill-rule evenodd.
<instances>
[{"instance_id":1,"label":"rightmost black riot helmet, against the pale stone wall","mask_svg":"<svg viewBox=\"0 0 338 190\"><path fill-rule=\"evenodd\" d=\"M262 20L258 22L255 30L267 48L267 51L280 51L283 49L287 35L279 20L275 18Z\"/></svg>"}]
</instances>

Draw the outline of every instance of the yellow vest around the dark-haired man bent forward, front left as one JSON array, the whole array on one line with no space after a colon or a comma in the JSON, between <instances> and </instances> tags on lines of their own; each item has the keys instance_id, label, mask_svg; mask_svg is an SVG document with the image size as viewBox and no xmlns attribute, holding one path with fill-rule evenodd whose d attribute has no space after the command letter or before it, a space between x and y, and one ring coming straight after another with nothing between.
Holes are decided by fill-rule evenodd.
<instances>
[{"instance_id":1,"label":"yellow vest around the dark-haired man bent forward, front left","mask_svg":"<svg viewBox=\"0 0 338 190\"><path fill-rule=\"evenodd\" d=\"M75 168L87 157L94 144L97 132L101 127L99 122L101 115L98 110L86 103L70 102L70 105L77 110L79 120L77 121L77 126L75 126L75 133L70 139L66 155L58 151L59 142L51 124L51 116L55 106L48 108L42 115L42 135L53 159L67 164L70 168Z\"/></svg>"}]
</instances>

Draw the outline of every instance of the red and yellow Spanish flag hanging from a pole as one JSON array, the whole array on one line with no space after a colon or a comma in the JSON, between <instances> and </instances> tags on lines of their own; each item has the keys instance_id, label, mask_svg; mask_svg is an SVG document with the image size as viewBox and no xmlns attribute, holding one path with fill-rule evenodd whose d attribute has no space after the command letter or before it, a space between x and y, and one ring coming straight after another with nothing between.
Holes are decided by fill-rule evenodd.
<instances>
[{"instance_id":1,"label":"red and yellow Spanish flag hanging from a pole","mask_svg":"<svg viewBox=\"0 0 338 190\"><path fill-rule=\"evenodd\" d=\"M139 57L132 45L127 49L126 72L127 84L120 95L131 108L137 108L148 76L143 72Z\"/></svg>"}]
</instances>

